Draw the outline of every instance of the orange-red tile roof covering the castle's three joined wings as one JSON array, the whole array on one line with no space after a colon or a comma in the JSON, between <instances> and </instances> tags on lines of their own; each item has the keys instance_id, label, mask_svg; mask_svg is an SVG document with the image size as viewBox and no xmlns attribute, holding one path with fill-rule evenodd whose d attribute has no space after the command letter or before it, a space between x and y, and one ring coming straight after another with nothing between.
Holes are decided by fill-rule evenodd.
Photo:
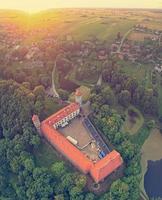
<instances>
[{"instance_id":1,"label":"orange-red tile roof covering the castle's three joined wings","mask_svg":"<svg viewBox=\"0 0 162 200\"><path fill-rule=\"evenodd\" d=\"M53 128L53 123L58 116L64 118L68 114L77 110L79 105L76 103L61 109L41 123L41 131L44 137L65 157L67 157L83 173L90 173L96 183L102 181L113 171L123 164L123 160L117 151L112 151L97 163L89 160L77 147L72 145L61 133Z\"/></svg>"}]
</instances>

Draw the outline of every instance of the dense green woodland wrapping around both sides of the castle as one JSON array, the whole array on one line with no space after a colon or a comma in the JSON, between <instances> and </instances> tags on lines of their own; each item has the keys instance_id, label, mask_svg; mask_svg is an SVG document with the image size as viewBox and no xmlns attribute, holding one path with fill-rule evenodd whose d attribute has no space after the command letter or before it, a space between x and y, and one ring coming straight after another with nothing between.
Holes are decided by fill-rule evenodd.
<instances>
[{"instance_id":1,"label":"dense green woodland wrapping around both sides of the castle","mask_svg":"<svg viewBox=\"0 0 162 200\"><path fill-rule=\"evenodd\" d=\"M124 177L97 199L136 200L139 199L140 147L120 131L124 118L110 108L113 95L105 95L106 90L95 88L91 97L95 124L122 154L126 166ZM98 98L105 95L106 102L98 103L94 98L96 93ZM36 166L32 152L40 145L40 138L31 116L33 113L44 115L42 86L31 91L14 81L2 80L0 105L1 199L96 199L85 190L86 177L70 172L64 162L54 162L50 169Z\"/></svg>"}]
</instances>

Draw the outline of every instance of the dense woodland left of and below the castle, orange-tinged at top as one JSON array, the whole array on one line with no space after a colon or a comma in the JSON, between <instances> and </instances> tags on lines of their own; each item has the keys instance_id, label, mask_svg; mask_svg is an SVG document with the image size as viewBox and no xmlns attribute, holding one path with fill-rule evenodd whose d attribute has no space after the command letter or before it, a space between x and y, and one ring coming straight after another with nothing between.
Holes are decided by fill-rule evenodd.
<instances>
[{"instance_id":1,"label":"dense woodland left of and below the castle, orange-tinged at top","mask_svg":"<svg viewBox=\"0 0 162 200\"><path fill-rule=\"evenodd\" d=\"M64 162L54 162L51 169L36 166L32 152L40 138L31 116L42 111L44 101L38 90L0 81L1 199L95 199L83 192L86 177L68 171Z\"/></svg>"}]
</instances>

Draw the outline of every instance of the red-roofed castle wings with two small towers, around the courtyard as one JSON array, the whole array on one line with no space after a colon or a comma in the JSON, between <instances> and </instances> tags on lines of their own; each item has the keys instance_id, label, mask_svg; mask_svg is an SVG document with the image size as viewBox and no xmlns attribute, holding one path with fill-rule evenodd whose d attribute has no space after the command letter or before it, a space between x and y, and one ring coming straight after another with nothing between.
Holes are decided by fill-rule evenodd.
<instances>
[{"instance_id":1,"label":"red-roofed castle wings with two small towers, around the courtyard","mask_svg":"<svg viewBox=\"0 0 162 200\"><path fill-rule=\"evenodd\" d=\"M57 151L62 153L82 173L89 173L93 180L99 183L117 170L123 164L123 160L120 154L113 150L97 160L97 162L93 162L77 148L72 140L69 141L59 132L59 127L64 128L79 115L81 103L81 94L77 92L76 103L69 104L42 122L39 121L37 115L33 115L32 121L38 132Z\"/></svg>"}]
</instances>

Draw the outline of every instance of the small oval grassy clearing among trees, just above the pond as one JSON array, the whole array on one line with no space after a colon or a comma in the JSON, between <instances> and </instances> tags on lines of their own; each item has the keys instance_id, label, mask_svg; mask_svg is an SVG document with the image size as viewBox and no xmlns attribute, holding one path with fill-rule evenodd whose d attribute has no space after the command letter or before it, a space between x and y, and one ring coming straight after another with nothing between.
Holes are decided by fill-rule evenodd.
<instances>
[{"instance_id":1,"label":"small oval grassy clearing among trees, just above the pond","mask_svg":"<svg viewBox=\"0 0 162 200\"><path fill-rule=\"evenodd\" d=\"M132 109L133 111L135 111L138 114L138 117L136 117L136 122L134 124L132 124L130 121L130 117L128 115L129 109ZM126 121L125 121L122 129L124 132L127 132L130 135L134 135L143 126L144 118L143 118L142 114L140 113L140 111L138 109L136 109L134 106L129 106L129 108L125 111L125 114L126 114Z\"/></svg>"}]
</instances>

